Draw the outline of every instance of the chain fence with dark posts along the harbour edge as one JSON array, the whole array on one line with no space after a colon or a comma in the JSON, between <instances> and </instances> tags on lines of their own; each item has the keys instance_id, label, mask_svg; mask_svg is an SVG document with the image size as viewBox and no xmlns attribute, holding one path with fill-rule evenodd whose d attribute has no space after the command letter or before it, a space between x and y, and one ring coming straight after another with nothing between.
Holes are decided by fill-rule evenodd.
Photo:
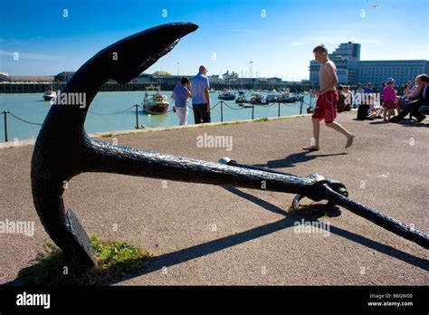
<instances>
[{"instance_id":1,"label":"chain fence with dark posts along the harbour edge","mask_svg":"<svg viewBox=\"0 0 429 315\"><path fill-rule=\"evenodd\" d=\"M299 101L294 102L294 103L290 103L290 104L284 103L284 102L281 102L281 101L272 102L272 103L269 103L269 104L266 104L266 105L265 104L252 104L250 102L247 102L247 103L244 103L244 104L245 104L245 106L234 107L234 106L231 106L228 103L226 103L224 100L220 100L220 101L218 101L215 104L215 106L211 107L210 110L215 110L216 107L220 106L221 122L224 122L224 106L226 106L230 110L248 110L248 109L252 109L252 119L254 119L254 109L255 109L255 107L269 108L269 107L277 105L278 106L277 117L280 117L281 116L280 115L281 105L285 105L285 106L288 106L288 107L300 105L300 115L302 114L302 107L303 107L303 105L308 105L309 109L312 106L311 105L311 96L310 96L310 103L307 103L307 102L305 102L303 100L303 98L300 98ZM91 114L93 114L93 115L113 116L113 115L119 115L119 114L122 114L124 112L130 111L132 108L135 108L135 112L136 112L136 126L135 126L136 129L144 129L145 128L145 126L139 125L139 123L138 123L138 116L139 116L138 110L139 109L146 111L148 114L159 114L159 112L150 111L148 109L144 109L142 105L138 105L138 104L132 105L131 107L127 108L126 110L120 110L120 111L110 112L110 113L102 113L102 112L96 112L96 111L91 111L91 110L88 110L88 112L91 113ZM189 109L194 110L192 106L189 106ZM163 112L163 114L167 114L167 113L169 113L171 111L173 111L173 109L172 110L167 110L165 113ZM5 142L8 142L8 134L7 134L7 115L8 114L10 116L12 116L14 119L18 119L21 122L24 122L24 123L29 124L29 125L33 125L33 126L42 126L43 125L43 123L33 122L33 121L30 121L30 120L21 118L19 116L16 116L16 115L14 115L12 112L10 112L8 110L4 110L4 111L0 112L0 114L4 115L4 121L5 121ZM156 128L155 126L149 126L149 125L146 125L146 127Z\"/></svg>"}]
</instances>

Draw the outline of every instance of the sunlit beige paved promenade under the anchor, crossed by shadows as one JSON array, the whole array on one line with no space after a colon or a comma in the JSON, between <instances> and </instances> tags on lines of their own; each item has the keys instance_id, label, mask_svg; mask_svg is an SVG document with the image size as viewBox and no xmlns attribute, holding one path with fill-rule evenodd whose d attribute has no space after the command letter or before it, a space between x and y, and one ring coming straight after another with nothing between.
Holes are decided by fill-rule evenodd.
<instances>
[{"instance_id":1,"label":"sunlit beige paved promenade under the anchor, crossed by shadows","mask_svg":"<svg viewBox=\"0 0 429 315\"><path fill-rule=\"evenodd\" d=\"M322 126L321 149L310 153L301 151L310 145L310 117L114 138L119 145L178 156L213 162L228 156L301 176L334 177L352 198L428 234L429 128L357 121L355 116L338 116L338 122L356 134L351 148L344 148L343 136ZM197 138L204 134L232 136L232 150L198 148ZM34 222L33 236L0 234L0 283L14 281L21 269L32 265L48 239L33 206L32 153L31 145L0 149L0 221ZM424 248L343 208L330 216L288 213L292 198L87 173L71 179L64 202L89 234L123 240L154 254L146 272L115 285L429 283L429 252ZM327 230L302 233L294 226L302 220L324 223Z\"/></svg>"}]
</instances>

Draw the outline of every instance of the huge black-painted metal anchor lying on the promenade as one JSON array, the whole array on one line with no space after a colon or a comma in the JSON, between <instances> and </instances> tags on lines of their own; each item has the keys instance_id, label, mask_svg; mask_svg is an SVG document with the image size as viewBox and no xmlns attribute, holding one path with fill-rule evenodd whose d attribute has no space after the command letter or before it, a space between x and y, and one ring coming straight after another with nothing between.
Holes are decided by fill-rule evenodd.
<instances>
[{"instance_id":1,"label":"huge black-painted metal anchor lying on the promenade","mask_svg":"<svg viewBox=\"0 0 429 315\"><path fill-rule=\"evenodd\" d=\"M195 24L164 24L113 43L83 64L62 90L66 95L84 93L86 106L82 108L81 103L72 101L76 99L65 98L65 102L52 105L48 112L33 151L33 201L46 232L69 257L77 256L81 262L97 264L88 235L71 210L65 211L62 200L64 182L84 172L248 187L298 194L315 201L330 199L347 205L348 201L341 199L347 198L345 186L318 175L298 177L243 165L228 166L114 146L88 137L84 121L101 86L109 80L131 81L171 51L181 37L197 28ZM382 226L428 248L426 234L405 224L396 222L396 225L400 233L386 224Z\"/></svg>"}]
</instances>

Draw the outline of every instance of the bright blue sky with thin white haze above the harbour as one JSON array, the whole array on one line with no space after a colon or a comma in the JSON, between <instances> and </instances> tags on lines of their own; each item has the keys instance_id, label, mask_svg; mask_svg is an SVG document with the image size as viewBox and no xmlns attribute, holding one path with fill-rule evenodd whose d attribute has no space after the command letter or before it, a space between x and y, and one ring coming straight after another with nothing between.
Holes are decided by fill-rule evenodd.
<instances>
[{"instance_id":1,"label":"bright blue sky with thin white haze above the harbour","mask_svg":"<svg viewBox=\"0 0 429 315\"><path fill-rule=\"evenodd\" d=\"M312 48L361 43L361 60L429 59L428 0L2 0L0 72L76 71L104 47L158 24L195 33L148 68L192 75L227 70L283 80L309 77ZM18 52L16 55L15 52ZM16 56L18 57L17 60Z\"/></svg>"}]
</instances>

